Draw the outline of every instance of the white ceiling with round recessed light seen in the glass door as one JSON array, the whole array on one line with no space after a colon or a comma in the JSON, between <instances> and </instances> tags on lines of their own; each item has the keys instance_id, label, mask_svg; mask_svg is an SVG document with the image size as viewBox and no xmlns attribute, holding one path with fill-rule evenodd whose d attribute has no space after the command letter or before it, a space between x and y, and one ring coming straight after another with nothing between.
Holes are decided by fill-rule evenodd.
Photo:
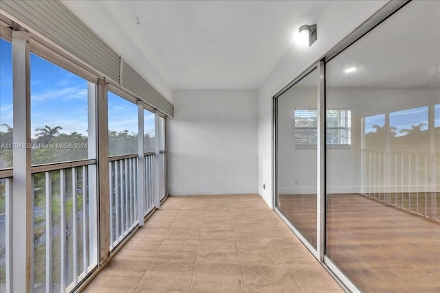
<instances>
[{"instance_id":1,"label":"white ceiling with round recessed light seen in the glass door","mask_svg":"<svg viewBox=\"0 0 440 293\"><path fill-rule=\"evenodd\" d=\"M440 1L409 3L331 60L327 76L328 86L440 89Z\"/></svg>"}]
</instances>

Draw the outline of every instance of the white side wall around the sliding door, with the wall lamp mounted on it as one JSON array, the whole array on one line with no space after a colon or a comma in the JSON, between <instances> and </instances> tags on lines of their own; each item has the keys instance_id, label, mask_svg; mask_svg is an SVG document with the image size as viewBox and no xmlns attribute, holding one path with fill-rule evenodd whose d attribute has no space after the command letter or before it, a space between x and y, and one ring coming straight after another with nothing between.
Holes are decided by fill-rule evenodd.
<instances>
[{"instance_id":1,"label":"white side wall around the sliding door, with the wall lamp mounted on it","mask_svg":"<svg viewBox=\"0 0 440 293\"><path fill-rule=\"evenodd\" d=\"M272 97L387 1L331 1L316 19L318 40L305 50L294 44L259 89L259 194L272 207ZM263 184L266 188L263 189Z\"/></svg>"}]
</instances>

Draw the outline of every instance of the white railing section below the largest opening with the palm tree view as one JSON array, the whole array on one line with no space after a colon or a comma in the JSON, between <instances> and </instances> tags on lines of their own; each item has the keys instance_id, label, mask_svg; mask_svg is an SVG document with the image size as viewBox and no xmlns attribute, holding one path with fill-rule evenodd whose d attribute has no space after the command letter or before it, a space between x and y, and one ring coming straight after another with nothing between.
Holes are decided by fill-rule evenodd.
<instances>
[{"instance_id":1,"label":"white railing section below the largest opening with the palm tree view","mask_svg":"<svg viewBox=\"0 0 440 293\"><path fill-rule=\"evenodd\" d=\"M96 162L32 167L34 292L69 292L98 264Z\"/></svg>"}]
</instances>

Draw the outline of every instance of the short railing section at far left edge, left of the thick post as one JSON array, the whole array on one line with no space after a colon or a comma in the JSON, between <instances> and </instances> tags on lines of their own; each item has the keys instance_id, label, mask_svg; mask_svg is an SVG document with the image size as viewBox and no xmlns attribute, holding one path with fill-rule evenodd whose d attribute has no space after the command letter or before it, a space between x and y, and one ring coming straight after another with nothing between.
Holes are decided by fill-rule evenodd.
<instances>
[{"instance_id":1,"label":"short railing section at far left edge, left of the thick post","mask_svg":"<svg viewBox=\"0 0 440 293\"><path fill-rule=\"evenodd\" d=\"M0 292L11 292L12 177L0 178Z\"/></svg>"}]
</instances>

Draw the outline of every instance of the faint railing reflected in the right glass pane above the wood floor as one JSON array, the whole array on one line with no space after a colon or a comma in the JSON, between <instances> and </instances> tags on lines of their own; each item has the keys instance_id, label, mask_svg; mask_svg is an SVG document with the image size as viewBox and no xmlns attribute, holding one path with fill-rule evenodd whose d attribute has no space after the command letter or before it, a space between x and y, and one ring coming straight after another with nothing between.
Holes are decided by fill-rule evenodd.
<instances>
[{"instance_id":1,"label":"faint railing reflected in the right glass pane above the wood floor","mask_svg":"<svg viewBox=\"0 0 440 293\"><path fill-rule=\"evenodd\" d=\"M362 150L361 158L364 196L440 220L440 154Z\"/></svg>"}]
</instances>

